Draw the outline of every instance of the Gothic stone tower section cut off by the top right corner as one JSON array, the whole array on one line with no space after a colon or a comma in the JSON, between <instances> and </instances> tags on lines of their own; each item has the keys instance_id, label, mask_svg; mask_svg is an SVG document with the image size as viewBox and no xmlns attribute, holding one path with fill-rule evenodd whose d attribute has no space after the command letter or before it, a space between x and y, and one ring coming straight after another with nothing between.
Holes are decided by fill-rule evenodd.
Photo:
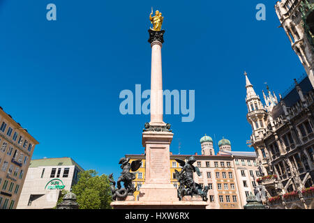
<instances>
[{"instance_id":1,"label":"Gothic stone tower section cut off by the top right corner","mask_svg":"<svg viewBox=\"0 0 314 223\"><path fill-rule=\"evenodd\" d=\"M281 0L276 13L314 86L314 0Z\"/></svg>"}]
</instances>

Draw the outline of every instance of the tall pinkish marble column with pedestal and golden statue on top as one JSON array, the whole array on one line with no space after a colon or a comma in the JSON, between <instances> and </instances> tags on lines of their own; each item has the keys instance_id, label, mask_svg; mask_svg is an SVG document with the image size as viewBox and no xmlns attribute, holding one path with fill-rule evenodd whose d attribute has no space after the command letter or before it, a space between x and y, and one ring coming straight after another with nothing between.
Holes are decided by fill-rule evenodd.
<instances>
[{"instance_id":1,"label":"tall pinkish marble column with pedestal and golden statue on top","mask_svg":"<svg viewBox=\"0 0 314 223\"><path fill-rule=\"evenodd\" d=\"M142 145L145 147L146 176L140 188L140 201L178 201L177 189L170 183L170 144L173 133L163 122L163 75L161 47L163 17L156 11L151 17L154 29L149 29L151 44L151 121L145 124Z\"/></svg>"}]
</instances>

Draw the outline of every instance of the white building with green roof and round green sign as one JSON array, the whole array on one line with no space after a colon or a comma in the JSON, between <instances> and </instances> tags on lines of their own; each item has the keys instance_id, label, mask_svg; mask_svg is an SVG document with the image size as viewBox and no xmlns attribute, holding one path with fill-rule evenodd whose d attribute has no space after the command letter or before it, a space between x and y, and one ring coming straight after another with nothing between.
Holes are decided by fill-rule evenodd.
<instances>
[{"instance_id":1,"label":"white building with green roof and round green sign","mask_svg":"<svg viewBox=\"0 0 314 223\"><path fill-rule=\"evenodd\" d=\"M77 183L84 171L70 157L31 160L17 209L50 209L57 205L61 190Z\"/></svg>"}]
</instances>

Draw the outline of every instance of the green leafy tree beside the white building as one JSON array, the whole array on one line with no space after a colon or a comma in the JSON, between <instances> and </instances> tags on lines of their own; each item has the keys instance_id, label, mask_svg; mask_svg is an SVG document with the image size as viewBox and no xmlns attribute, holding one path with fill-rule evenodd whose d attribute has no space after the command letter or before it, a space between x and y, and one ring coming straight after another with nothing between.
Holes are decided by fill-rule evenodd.
<instances>
[{"instance_id":1,"label":"green leafy tree beside the white building","mask_svg":"<svg viewBox=\"0 0 314 223\"><path fill-rule=\"evenodd\" d=\"M79 181L72 187L80 209L109 209L111 190L108 176L101 176L94 169L79 173Z\"/></svg>"}]
</instances>

